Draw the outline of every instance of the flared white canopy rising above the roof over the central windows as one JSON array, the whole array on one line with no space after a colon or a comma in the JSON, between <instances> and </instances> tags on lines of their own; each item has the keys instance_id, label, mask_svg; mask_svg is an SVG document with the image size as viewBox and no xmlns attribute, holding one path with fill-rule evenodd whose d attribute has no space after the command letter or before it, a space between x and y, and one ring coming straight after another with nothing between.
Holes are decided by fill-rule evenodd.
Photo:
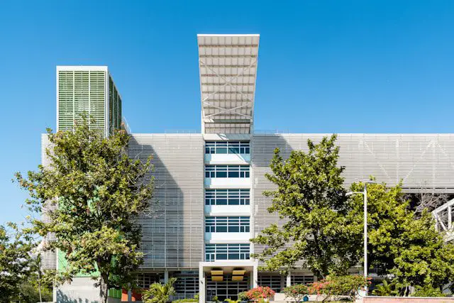
<instances>
[{"instance_id":1,"label":"flared white canopy rising above the roof over the central windows","mask_svg":"<svg viewBox=\"0 0 454 303\"><path fill-rule=\"evenodd\" d=\"M260 35L197 35L202 133L252 133Z\"/></svg>"}]
</instances>

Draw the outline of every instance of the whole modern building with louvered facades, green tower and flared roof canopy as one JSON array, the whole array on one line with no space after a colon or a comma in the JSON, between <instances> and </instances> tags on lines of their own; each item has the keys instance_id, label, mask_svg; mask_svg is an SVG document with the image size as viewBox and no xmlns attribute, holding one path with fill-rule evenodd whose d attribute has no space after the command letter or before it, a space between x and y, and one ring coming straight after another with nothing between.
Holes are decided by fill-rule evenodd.
<instances>
[{"instance_id":1,"label":"whole modern building with louvered facades, green tower and flared roof canopy","mask_svg":"<svg viewBox=\"0 0 454 303\"><path fill-rule=\"evenodd\" d=\"M262 194L273 188L265 179L273 150L280 148L288 157L292 150L306 150L308 138L319 141L330 135L254 130L259 39L197 35L201 133L131 134L131 157L145 160L153 155L155 165L152 209L140 216L145 254L138 272L141 287L177 277L175 297L199 293L200 302L205 302L214 296L235 298L255 285L280 290L314 280L304 267L286 277L258 272L258 261L250 258L262 247L249 239L279 221L268 214L271 200ZM99 70L104 72L93 75ZM82 94L79 85L84 87ZM111 93L112 87L106 67L57 67L58 129L71 130L71 119L81 108L99 114L99 129L106 134L118 127L121 99L116 89ZM42 139L45 147L47 138ZM345 187L374 175L390 186L403 180L409 193L423 187L454 194L454 134L341 133L337 144L339 164L346 167ZM50 257L46 265L57 268L59 260ZM55 290L58 302L95 300L92 283L87 277L74 278L72 285ZM123 299L132 296L125 292Z\"/></svg>"}]
</instances>

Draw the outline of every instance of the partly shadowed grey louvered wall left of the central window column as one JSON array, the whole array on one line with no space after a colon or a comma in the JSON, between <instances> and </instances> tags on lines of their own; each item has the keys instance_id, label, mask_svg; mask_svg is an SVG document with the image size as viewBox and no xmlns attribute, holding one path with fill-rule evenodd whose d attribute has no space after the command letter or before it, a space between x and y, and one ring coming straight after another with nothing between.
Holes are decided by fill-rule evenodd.
<instances>
[{"instance_id":1,"label":"partly shadowed grey louvered wall left of the central window column","mask_svg":"<svg viewBox=\"0 0 454 303\"><path fill-rule=\"evenodd\" d=\"M203 258L204 172L201 136L133 135L131 158L153 155L155 189L142 226L142 268L196 267Z\"/></svg>"}]
</instances>

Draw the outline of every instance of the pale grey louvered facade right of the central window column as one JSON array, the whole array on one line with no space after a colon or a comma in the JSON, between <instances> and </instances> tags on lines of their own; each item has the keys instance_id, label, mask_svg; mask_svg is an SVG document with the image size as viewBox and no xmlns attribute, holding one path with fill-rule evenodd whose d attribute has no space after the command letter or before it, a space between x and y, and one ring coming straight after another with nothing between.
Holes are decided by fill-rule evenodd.
<instances>
[{"instance_id":1,"label":"pale grey louvered facade right of the central window column","mask_svg":"<svg viewBox=\"0 0 454 303\"><path fill-rule=\"evenodd\" d=\"M292 150L307 151L307 140L321 141L331 134L273 134L253 135L251 139L253 189L254 236L270 223L283 224L277 214L270 214L267 208L272 204L265 197L265 190L275 189L265 177L270 173L270 161L275 148L281 150L284 159ZM338 134L339 165L345 166L343 177L345 187L352 182L367 179L370 175L377 182L394 186L403 180L404 192L418 192L421 187L433 192L454 193L454 135L453 134ZM254 245L254 252L260 253L263 246ZM303 266L300 262L297 266Z\"/></svg>"}]
</instances>

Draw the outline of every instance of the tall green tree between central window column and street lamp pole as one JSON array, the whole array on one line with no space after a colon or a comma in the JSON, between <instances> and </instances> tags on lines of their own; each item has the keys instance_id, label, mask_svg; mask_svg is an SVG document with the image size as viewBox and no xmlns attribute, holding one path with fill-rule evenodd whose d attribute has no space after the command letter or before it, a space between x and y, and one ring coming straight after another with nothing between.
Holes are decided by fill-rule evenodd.
<instances>
[{"instance_id":1,"label":"tall green tree between central window column and street lamp pole","mask_svg":"<svg viewBox=\"0 0 454 303\"><path fill-rule=\"evenodd\" d=\"M297 261L306 260L321 279L331 272L345 274L358 263L358 253L353 251L358 248L351 238L357 232L350 231L346 221L350 204L335 141L336 135L318 144L308 140L309 151L293 150L288 160L275 150L272 174L266 177L277 189L264 194L272 197L268 211L279 214L284 224L272 224L251 239L265 246L262 253L254 255L265 261L262 269L286 271Z\"/></svg>"}]
</instances>

